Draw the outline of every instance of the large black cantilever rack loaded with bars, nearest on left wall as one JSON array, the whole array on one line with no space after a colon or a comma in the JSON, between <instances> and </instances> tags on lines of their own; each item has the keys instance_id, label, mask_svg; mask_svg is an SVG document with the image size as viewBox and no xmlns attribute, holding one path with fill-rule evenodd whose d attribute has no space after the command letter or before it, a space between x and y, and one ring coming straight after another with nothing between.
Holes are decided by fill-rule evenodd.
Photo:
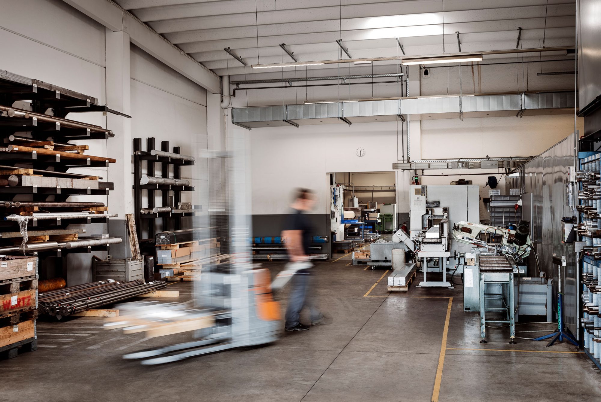
<instances>
[{"instance_id":1,"label":"large black cantilever rack loaded with bars, nearest on left wall","mask_svg":"<svg viewBox=\"0 0 601 402\"><path fill-rule=\"evenodd\" d=\"M69 202L70 196L108 195L113 183L71 168L106 168L117 160L85 154L75 140L108 139L111 130L69 120L71 112L112 112L97 99L0 70L0 253L106 251L121 238L87 236L72 224L106 223L103 203ZM49 114L50 113L50 114ZM85 235L84 235L85 234ZM82 239L82 235L86 236ZM50 256L52 254L46 254ZM63 259L58 275L66 278Z\"/></svg>"}]
</instances>

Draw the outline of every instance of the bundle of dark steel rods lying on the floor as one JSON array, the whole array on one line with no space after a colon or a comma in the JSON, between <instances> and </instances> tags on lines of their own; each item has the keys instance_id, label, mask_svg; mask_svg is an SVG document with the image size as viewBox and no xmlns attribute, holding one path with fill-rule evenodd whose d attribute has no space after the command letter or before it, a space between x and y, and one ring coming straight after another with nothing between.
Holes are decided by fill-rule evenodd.
<instances>
[{"instance_id":1,"label":"bundle of dark steel rods lying on the floor","mask_svg":"<svg viewBox=\"0 0 601 402\"><path fill-rule=\"evenodd\" d=\"M58 318L74 312L120 302L165 287L165 282L144 281L100 281L40 293L39 305L42 314Z\"/></svg>"}]
</instances>

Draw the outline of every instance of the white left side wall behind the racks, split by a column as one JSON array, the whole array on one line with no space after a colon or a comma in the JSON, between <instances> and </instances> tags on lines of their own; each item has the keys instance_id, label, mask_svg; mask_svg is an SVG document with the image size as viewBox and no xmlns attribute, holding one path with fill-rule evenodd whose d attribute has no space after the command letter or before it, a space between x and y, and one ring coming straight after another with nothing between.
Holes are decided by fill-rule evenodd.
<instances>
[{"instance_id":1,"label":"white left side wall behind the racks, split by a column","mask_svg":"<svg viewBox=\"0 0 601 402\"><path fill-rule=\"evenodd\" d=\"M100 105L105 104L105 27L65 2L2 0L0 43L0 69L88 94L96 97ZM155 136L159 145L160 140L169 140L171 146L179 145L183 150L206 147L206 91L135 46L130 58L132 138L128 141L136 136ZM68 118L106 127L102 113L72 114ZM78 141L78 144L90 145L88 154L110 157L111 148L118 146L115 144L119 140ZM106 168L70 171L108 178ZM192 172L184 170L183 176L191 177ZM70 198L77 199L102 201L110 212L110 196ZM84 227L91 234L107 231L106 224ZM68 266L70 285L91 281L90 254L69 255Z\"/></svg>"}]
</instances>

